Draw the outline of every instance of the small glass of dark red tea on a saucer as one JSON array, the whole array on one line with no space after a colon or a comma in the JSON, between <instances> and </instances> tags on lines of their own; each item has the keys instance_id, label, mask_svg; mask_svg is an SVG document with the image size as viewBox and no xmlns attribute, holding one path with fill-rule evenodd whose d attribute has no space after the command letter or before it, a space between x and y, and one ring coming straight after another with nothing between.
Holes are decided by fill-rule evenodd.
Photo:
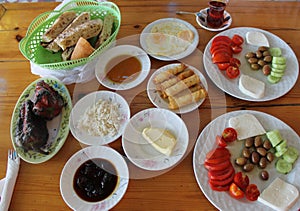
<instances>
[{"instance_id":1,"label":"small glass of dark red tea on a saucer","mask_svg":"<svg viewBox=\"0 0 300 211\"><path fill-rule=\"evenodd\" d=\"M224 23L224 10L226 4L220 1L210 1L207 14L207 24L212 28L219 28Z\"/></svg>"}]
</instances>

